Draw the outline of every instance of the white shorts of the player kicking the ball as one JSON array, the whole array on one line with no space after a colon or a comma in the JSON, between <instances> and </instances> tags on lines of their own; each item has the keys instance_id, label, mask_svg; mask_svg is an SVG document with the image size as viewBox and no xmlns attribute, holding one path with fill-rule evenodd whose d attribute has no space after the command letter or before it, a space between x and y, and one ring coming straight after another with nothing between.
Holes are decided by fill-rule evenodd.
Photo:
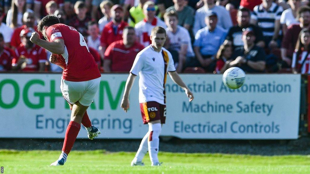
<instances>
[{"instance_id":1,"label":"white shorts of the player kicking the ball","mask_svg":"<svg viewBox=\"0 0 310 174\"><path fill-rule=\"evenodd\" d=\"M83 106L90 106L99 89L101 77L88 81L67 81L61 78L60 90L70 104L79 101Z\"/></svg>"}]
</instances>

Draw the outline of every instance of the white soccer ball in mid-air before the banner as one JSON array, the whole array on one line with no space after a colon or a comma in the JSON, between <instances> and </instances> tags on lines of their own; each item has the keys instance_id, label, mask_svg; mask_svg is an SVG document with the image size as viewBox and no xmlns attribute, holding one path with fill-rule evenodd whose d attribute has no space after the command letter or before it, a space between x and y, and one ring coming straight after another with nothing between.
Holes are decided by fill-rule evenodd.
<instances>
[{"instance_id":1,"label":"white soccer ball in mid-air before the banner","mask_svg":"<svg viewBox=\"0 0 310 174\"><path fill-rule=\"evenodd\" d=\"M246 73L241 68L231 67L228 68L223 74L223 83L231 89L240 88L245 80Z\"/></svg>"}]
</instances>

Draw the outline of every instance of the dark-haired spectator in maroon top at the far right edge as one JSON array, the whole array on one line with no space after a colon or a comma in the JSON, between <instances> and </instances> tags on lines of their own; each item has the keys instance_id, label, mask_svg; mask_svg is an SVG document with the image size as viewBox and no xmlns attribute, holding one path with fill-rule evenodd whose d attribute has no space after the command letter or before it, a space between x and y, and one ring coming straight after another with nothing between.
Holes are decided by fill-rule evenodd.
<instances>
[{"instance_id":1,"label":"dark-haired spectator in maroon top at the far right edge","mask_svg":"<svg viewBox=\"0 0 310 174\"><path fill-rule=\"evenodd\" d=\"M310 27L310 8L300 7L297 11L299 24L292 24L287 28L287 32L282 40L281 46L281 67L291 67L293 52L297 43L300 31Z\"/></svg>"}]
</instances>

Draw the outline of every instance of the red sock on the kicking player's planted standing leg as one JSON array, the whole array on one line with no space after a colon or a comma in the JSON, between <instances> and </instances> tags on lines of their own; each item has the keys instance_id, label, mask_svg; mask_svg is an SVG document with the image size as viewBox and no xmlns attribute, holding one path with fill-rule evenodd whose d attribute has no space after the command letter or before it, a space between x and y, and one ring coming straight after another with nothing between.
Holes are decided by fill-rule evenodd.
<instances>
[{"instance_id":1,"label":"red sock on the kicking player's planted standing leg","mask_svg":"<svg viewBox=\"0 0 310 174\"><path fill-rule=\"evenodd\" d=\"M87 115L87 114L86 114ZM87 116L88 118L88 116ZM78 136L78 132L81 129L81 124L78 124L75 121L70 121L66 130L66 135L64 137L64 146L62 147L62 151L67 155L70 153L74 141Z\"/></svg>"}]
</instances>

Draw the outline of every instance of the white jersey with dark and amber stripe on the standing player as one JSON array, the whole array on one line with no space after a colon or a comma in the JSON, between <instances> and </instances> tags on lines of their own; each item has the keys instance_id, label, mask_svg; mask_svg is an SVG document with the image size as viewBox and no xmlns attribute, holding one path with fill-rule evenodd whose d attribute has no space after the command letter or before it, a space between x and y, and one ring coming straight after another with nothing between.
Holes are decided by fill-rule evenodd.
<instances>
[{"instance_id":1,"label":"white jersey with dark and amber stripe on the standing player","mask_svg":"<svg viewBox=\"0 0 310 174\"><path fill-rule=\"evenodd\" d=\"M130 72L139 75L139 103L158 102L166 104L165 84L167 72L175 71L172 55L162 48L160 52L147 46L140 51Z\"/></svg>"}]
</instances>

